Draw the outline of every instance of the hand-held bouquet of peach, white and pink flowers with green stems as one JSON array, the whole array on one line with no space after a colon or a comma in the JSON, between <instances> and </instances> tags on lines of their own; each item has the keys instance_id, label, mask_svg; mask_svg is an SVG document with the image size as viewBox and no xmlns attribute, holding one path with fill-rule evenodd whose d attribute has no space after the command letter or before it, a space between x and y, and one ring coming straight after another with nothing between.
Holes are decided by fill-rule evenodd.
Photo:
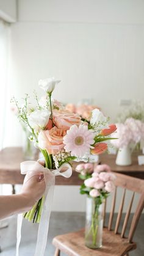
<instances>
[{"instance_id":1,"label":"hand-held bouquet of peach, white and pink flowers with green stems","mask_svg":"<svg viewBox=\"0 0 144 256\"><path fill-rule=\"evenodd\" d=\"M107 150L105 141L111 140L110 134L117 130L108 125L108 119L99 109L93 109L90 120L83 120L79 114L67 111L59 101L52 98L52 92L59 80L48 78L39 81L45 95L38 100L37 106L29 111L29 96L24 98L23 106L15 101L19 119L31 132L30 141L40 148L45 158L46 170L70 167L72 161L88 161L90 154L99 154ZM66 164L66 166L65 166ZM45 196L24 214L29 221L40 222Z\"/></svg>"}]
</instances>

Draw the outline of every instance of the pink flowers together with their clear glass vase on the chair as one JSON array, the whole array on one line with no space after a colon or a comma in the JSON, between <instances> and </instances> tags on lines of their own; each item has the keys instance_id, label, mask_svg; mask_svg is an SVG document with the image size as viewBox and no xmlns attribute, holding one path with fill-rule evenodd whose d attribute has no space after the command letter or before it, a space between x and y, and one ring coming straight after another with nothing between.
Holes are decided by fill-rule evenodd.
<instances>
[{"instance_id":1,"label":"pink flowers together with their clear glass vase on the chair","mask_svg":"<svg viewBox=\"0 0 144 256\"><path fill-rule=\"evenodd\" d=\"M84 180L80 193L87 194L87 215L85 224L85 245L90 248L102 246L104 200L115 189L115 175L107 164L94 166L92 163L76 167L79 178Z\"/></svg>"}]
</instances>

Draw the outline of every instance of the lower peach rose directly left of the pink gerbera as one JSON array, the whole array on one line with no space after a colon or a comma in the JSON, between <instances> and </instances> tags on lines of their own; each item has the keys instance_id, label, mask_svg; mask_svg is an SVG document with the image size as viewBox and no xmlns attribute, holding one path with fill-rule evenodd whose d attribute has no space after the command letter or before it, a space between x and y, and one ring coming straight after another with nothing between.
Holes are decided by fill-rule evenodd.
<instances>
[{"instance_id":1,"label":"lower peach rose directly left of the pink gerbera","mask_svg":"<svg viewBox=\"0 0 144 256\"><path fill-rule=\"evenodd\" d=\"M63 137L67 131L54 126L51 130L41 130L38 134L38 146L49 154L56 154L64 147Z\"/></svg>"}]
</instances>

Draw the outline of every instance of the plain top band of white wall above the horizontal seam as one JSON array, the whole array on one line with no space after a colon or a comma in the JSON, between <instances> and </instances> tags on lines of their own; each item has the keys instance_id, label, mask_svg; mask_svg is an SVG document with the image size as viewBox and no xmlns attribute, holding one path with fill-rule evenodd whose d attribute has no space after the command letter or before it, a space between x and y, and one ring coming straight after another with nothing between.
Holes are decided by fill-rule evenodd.
<instances>
[{"instance_id":1,"label":"plain top band of white wall above the horizontal seam","mask_svg":"<svg viewBox=\"0 0 144 256\"><path fill-rule=\"evenodd\" d=\"M20 21L141 24L143 0L19 0Z\"/></svg>"}]
</instances>

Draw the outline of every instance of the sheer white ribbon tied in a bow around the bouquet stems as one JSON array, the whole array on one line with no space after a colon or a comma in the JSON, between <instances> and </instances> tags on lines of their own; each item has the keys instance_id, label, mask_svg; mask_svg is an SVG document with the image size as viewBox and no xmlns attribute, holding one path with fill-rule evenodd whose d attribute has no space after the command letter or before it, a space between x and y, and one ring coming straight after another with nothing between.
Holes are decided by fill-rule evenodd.
<instances>
[{"instance_id":1,"label":"sheer white ribbon tied in a bow around the bouquet stems","mask_svg":"<svg viewBox=\"0 0 144 256\"><path fill-rule=\"evenodd\" d=\"M66 170L60 172L65 168ZM70 178L72 174L72 168L70 164L65 163L56 170L49 170L41 166L36 161L25 161L21 163L21 174L27 174L27 172L31 172L34 175L42 173L45 178L46 189L45 189L45 202L43 204L43 210L41 211L40 224L38 227L38 235L37 235L37 245L35 249L34 256L43 256L45 253L46 242L48 238L48 229L49 229L49 218L51 214L52 200L54 194L54 185L55 185L55 176L63 176L65 178ZM28 179L28 178L27 178ZM27 180L24 179L24 182ZM19 246L21 241L21 226L23 222L23 214L18 214L17 221L17 242L16 242L16 256L19 255Z\"/></svg>"}]
</instances>

